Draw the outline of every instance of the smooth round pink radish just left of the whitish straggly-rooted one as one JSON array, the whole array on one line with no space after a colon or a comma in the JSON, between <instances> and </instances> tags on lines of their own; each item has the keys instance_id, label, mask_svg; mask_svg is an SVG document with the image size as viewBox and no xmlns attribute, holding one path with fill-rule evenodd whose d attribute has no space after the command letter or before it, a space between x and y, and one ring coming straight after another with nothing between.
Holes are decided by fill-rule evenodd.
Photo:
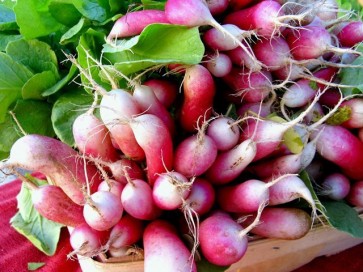
<instances>
[{"instance_id":1,"label":"smooth round pink radish just left of the whitish straggly-rooted one","mask_svg":"<svg viewBox=\"0 0 363 272\"><path fill-rule=\"evenodd\" d=\"M153 220L161 215L161 210L154 203L152 188L140 179L130 180L125 186L121 203L125 211L137 219Z\"/></svg>"}]
</instances>

